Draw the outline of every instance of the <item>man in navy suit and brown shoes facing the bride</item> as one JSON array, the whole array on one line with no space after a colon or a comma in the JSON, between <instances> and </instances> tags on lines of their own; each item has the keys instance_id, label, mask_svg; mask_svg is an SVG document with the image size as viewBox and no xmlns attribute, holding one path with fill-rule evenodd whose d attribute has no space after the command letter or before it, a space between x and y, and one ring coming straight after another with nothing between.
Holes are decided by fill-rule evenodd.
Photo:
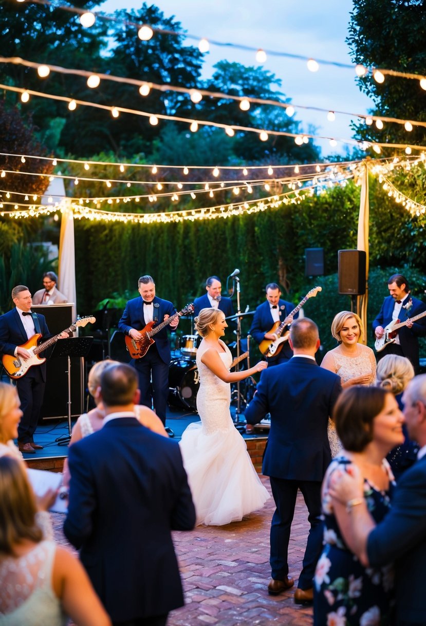
<instances>
[{"instance_id":1,"label":"man in navy suit and brown shoes facing the bride","mask_svg":"<svg viewBox=\"0 0 426 626\"><path fill-rule=\"evenodd\" d=\"M277 595L294 585L287 553L299 489L309 511L310 530L294 600L307 603L313 599L315 565L322 550L321 483L331 461L327 424L342 387L339 376L315 361L320 345L315 322L308 317L294 321L289 341L294 356L262 372L245 419L256 424L270 413L262 473L270 478L277 508L270 528L268 591Z\"/></svg>"}]
</instances>

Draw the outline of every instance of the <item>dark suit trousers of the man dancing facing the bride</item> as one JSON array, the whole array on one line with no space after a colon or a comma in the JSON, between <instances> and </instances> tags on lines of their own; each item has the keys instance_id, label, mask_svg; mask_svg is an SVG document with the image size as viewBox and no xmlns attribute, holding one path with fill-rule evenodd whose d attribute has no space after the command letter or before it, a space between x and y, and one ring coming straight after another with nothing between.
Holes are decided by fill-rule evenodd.
<instances>
[{"instance_id":1,"label":"dark suit trousers of the man dancing facing the bride","mask_svg":"<svg viewBox=\"0 0 426 626\"><path fill-rule=\"evenodd\" d=\"M321 515L321 483L319 481L286 480L270 476L270 486L277 506L270 526L271 574L274 580L285 580L289 573L288 549L297 490L300 489L308 510L309 535L298 587L310 589L315 567L322 551L323 524Z\"/></svg>"}]
</instances>

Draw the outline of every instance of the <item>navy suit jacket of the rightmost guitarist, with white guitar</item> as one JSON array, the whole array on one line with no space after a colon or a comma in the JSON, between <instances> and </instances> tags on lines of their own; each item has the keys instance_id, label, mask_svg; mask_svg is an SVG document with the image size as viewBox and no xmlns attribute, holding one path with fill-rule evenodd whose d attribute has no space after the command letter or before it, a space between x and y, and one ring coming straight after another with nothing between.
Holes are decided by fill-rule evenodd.
<instances>
[{"instance_id":1,"label":"navy suit jacket of the rightmost guitarist, with white guitar","mask_svg":"<svg viewBox=\"0 0 426 626\"><path fill-rule=\"evenodd\" d=\"M400 321L405 322L409 317L415 317L419 313L424 312L426 310L426 304L422 302L422 300L417 300L417 298L412 297L412 295L407 295L405 300L402 302L402 306L405 306L407 302L409 302L410 298L412 299L412 307L407 312L406 309L400 310ZM373 322L373 330L377 328L377 326L387 326L390 322L392 322L392 313L394 312L395 300L392 295L388 295L382 304L382 308L380 309L379 315ZM416 371L419 369L419 340L417 337L424 337L426 335L426 316L422 317L418 322L414 322L412 329L407 328L407 326L403 326L398 331L400 346L402 349L402 353L407 359L410 359ZM384 354L386 354L386 348L384 349Z\"/></svg>"}]
</instances>

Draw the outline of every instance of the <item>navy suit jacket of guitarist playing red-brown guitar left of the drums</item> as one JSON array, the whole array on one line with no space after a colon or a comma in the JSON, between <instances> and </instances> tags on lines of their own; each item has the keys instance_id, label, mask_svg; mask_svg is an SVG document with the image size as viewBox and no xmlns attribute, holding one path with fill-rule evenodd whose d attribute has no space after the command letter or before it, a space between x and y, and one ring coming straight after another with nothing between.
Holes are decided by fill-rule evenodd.
<instances>
[{"instance_id":1,"label":"navy suit jacket of guitarist playing red-brown guitar left of the drums","mask_svg":"<svg viewBox=\"0 0 426 626\"><path fill-rule=\"evenodd\" d=\"M176 313L176 308L169 300L162 300L156 296L152 302L154 303L154 319L157 317L159 324L164 320L165 315L172 316ZM137 331L142 331L145 326L143 301L141 296L139 296L127 302L126 309L124 309L121 320L118 323L118 329L128 335L132 328ZM157 350L162 361L169 365L171 354L167 326L152 337L152 339L156 342Z\"/></svg>"}]
</instances>

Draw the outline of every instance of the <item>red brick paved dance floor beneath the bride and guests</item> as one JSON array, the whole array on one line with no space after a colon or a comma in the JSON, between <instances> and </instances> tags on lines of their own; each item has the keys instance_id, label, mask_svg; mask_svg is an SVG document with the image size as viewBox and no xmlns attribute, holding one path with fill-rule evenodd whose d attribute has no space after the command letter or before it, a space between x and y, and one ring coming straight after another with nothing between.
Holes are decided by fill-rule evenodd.
<instances>
[{"instance_id":1,"label":"red brick paved dance floor beneath the bride and guests","mask_svg":"<svg viewBox=\"0 0 426 626\"><path fill-rule=\"evenodd\" d=\"M269 480L262 482L270 492ZM258 513L227 526L198 526L189 533L174 532L186 605L170 613L168 626L234 626L282 624L310 626L312 608L294 604L294 589L302 568L308 523L302 495L297 498L289 546L290 575L295 587L279 596L267 593L269 528L272 497ZM57 541L64 516L56 513Z\"/></svg>"}]
</instances>

